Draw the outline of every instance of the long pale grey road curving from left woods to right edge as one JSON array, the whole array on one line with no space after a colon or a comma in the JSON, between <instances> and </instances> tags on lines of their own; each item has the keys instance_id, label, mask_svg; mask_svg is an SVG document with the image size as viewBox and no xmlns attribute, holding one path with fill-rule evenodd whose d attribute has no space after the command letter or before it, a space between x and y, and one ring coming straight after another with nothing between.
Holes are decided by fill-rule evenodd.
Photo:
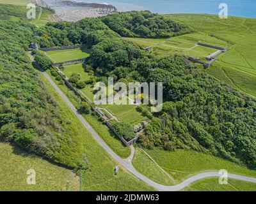
<instances>
[{"instance_id":1,"label":"long pale grey road curving from left woods to right edge","mask_svg":"<svg viewBox=\"0 0 256 204\"><path fill-rule=\"evenodd\" d=\"M31 60L33 61L33 56L30 54ZM148 179L145 177L145 175L142 175L140 172L138 172L131 164L131 159L134 154L134 149L132 150L132 155L129 157L129 159L122 159L119 157L105 142L100 138L100 136L95 132L95 130L88 124L88 122L84 119L84 117L77 111L76 107L68 100L67 96L60 90L60 88L52 81L51 77L45 72L42 71L42 74L45 78L51 83L52 87L60 94L61 98L67 103L67 105L70 107L72 112L76 114L76 116L79 118L79 120L83 123L84 127L90 131L90 133L93 135L95 140L108 152L108 154L113 157L118 163L120 163L124 168L126 168L128 171L130 171L135 177L138 177L138 179L143 180L148 185L154 187L155 189L159 191L180 191L181 189L184 189L184 187L188 187L189 184L192 184L193 182L209 177L220 177L218 172L205 172L205 173L199 173L193 177L190 177L187 180L184 180L180 184L176 186L164 186L161 184L157 184L153 180ZM228 174L228 178L230 179L238 179L243 180L247 182L253 182L256 183L256 179L252 177L243 177L241 175L234 175L234 174Z\"/></svg>"}]
</instances>

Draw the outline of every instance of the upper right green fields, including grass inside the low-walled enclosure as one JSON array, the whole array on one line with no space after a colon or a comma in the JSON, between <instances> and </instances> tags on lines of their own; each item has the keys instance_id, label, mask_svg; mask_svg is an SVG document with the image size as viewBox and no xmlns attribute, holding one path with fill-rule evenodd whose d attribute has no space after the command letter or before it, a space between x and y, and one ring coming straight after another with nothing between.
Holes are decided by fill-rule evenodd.
<instances>
[{"instance_id":1,"label":"upper right green fields, including grass inside the low-walled enclosure","mask_svg":"<svg viewBox=\"0 0 256 204\"><path fill-rule=\"evenodd\" d=\"M214 62L207 69L207 72L251 96L256 96L255 19L228 17L228 19L221 20L215 15L195 14L164 16L188 25L194 29L195 33L162 39L125 39L133 41L141 45L141 47L153 46L155 54L173 55L178 53L199 57L203 61L205 61L204 57L216 50L201 46L194 47L198 41L220 47L228 47L227 52L216 57L218 63ZM218 71L212 69L218 69Z\"/></svg>"}]
</instances>

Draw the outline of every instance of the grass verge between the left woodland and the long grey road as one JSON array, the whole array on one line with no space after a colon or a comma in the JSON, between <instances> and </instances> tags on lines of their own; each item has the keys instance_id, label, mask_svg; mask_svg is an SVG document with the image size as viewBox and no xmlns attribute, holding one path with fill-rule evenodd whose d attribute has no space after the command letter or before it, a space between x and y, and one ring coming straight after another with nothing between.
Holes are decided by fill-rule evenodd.
<instances>
[{"instance_id":1,"label":"grass verge between the left woodland and the long grey road","mask_svg":"<svg viewBox=\"0 0 256 204\"><path fill-rule=\"evenodd\" d=\"M68 108L66 103L54 88L41 76L47 85L47 89L52 92L56 101L60 105L63 121L67 121L70 131L69 145L60 152L61 156L72 159L81 157L79 152L86 154L90 164L90 170L83 172L83 191L152 191L152 187L136 179L129 172L121 168L118 175L114 175L117 163L111 159L107 152L100 147L93 136L84 128L83 124L77 119L76 115ZM65 87L65 86L63 86ZM62 87L62 88L63 88ZM66 87L67 88L67 87ZM67 92L64 91L66 94ZM63 140L66 140L63 138ZM68 140L68 138L67 138ZM77 151L76 151L77 150ZM78 151L79 150L79 151Z\"/></svg>"}]
</instances>

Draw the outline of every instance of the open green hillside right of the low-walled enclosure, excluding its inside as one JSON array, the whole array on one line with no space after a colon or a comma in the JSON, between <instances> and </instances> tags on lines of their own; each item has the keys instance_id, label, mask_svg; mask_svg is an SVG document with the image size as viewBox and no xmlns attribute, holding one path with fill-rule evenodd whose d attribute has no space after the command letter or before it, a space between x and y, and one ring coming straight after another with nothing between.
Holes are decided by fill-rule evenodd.
<instances>
[{"instance_id":1,"label":"open green hillside right of the low-walled enclosure, excluding its inside","mask_svg":"<svg viewBox=\"0 0 256 204\"><path fill-rule=\"evenodd\" d=\"M218 40L226 41L228 51L219 55L217 59L220 63L214 62L213 67L208 68L207 72L220 80L229 82L229 84L243 92L256 96L255 19L228 17L228 19L221 20L214 15L190 14L165 16L191 26L200 34L210 35ZM218 42L214 44L218 45ZM221 73L212 70L214 68L220 70Z\"/></svg>"}]
</instances>

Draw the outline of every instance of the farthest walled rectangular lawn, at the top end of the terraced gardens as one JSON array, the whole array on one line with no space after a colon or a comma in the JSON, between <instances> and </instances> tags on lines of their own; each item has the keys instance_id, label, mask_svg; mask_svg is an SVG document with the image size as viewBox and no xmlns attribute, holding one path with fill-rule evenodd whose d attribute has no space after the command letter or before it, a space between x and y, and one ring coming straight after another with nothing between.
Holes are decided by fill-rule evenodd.
<instances>
[{"instance_id":1,"label":"farthest walled rectangular lawn, at the top end of the terraced gardens","mask_svg":"<svg viewBox=\"0 0 256 204\"><path fill-rule=\"evenodd\" d=\"M45 52L45 54L48 55L54 62L72 61L74 59L81 59L89 56L89 54L85 52L83 48L49 51Z\"/></svg>"}]
</instances>

